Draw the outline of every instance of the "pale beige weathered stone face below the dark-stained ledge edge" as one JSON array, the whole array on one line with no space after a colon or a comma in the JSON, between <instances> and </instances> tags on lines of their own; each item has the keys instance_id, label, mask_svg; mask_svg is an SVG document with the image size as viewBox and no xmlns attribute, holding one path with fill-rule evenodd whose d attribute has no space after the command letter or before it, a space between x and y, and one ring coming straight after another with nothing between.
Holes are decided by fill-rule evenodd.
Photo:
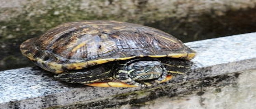
<instances>
[{"instance_id":1,"label":"pale beige weathered stone face below the dark-stained ledge edge","mask_svg":"<svg viewBox=\"0 0 256 109\"><path fill-rule=\"evenodd\" d=\"M186 84L194 84L192 86L195 86L204 83L204 85L198 86L200 88L198 90L176 96L166 95L146 102L124 104L105 109L255 109L255 78L256 69L251 69L201 81L190 81ZM120 102L125 102L125 99ZM78 106L68 105L52 109L77 109L76 107Z\"/></svg>"}]
</instances>

